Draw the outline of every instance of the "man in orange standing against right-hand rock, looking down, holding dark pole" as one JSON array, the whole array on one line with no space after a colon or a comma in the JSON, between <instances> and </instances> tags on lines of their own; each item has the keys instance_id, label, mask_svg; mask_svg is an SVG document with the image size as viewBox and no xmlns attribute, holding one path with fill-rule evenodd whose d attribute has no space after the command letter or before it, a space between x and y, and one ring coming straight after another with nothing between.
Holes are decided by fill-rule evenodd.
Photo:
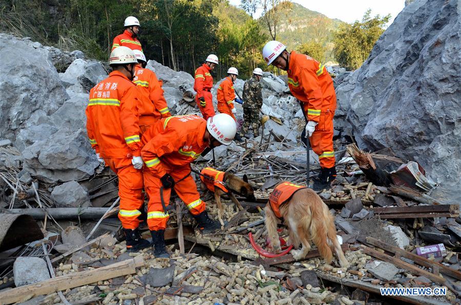
<instances>
[{"instance_id":1,"label":"man in orange standing against right-hand rock, looking down, holding dark pole","mask_svg":"<svg viewBox=\"0 0 461 305\"><path fill-rule=\"evenodd\" d=\"M336 110L336 94L333 80L324 64L310 56L286 50L279 41L269 41L263 48L267 65L288 72L291 93L302 104L306 118L306 136L320 161L320 174L314 182L315 190L329 188L336 178L333 151L333 117Z\"/></svg>"}]
</instances>

